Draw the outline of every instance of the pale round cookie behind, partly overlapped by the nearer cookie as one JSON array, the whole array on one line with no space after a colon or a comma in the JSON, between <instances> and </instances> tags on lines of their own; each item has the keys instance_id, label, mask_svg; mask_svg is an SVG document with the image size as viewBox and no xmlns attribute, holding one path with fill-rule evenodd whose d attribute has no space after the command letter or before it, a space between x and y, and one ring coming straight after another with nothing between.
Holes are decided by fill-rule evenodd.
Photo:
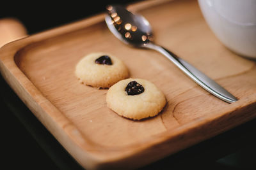
<instances>
[{"instance_id":1,"label":"pale round cookie behind, partly overlapped by the nearer cookie","mask_svg":"<svg viewBox=\"0 0 256 170\"><path fill-rule=\"evenodd\" d=\"M81 83L92 87L108 88L129 77L122 60L108 53L90 53L76 65L76 76Z\"/></svg>"}]
</instances>

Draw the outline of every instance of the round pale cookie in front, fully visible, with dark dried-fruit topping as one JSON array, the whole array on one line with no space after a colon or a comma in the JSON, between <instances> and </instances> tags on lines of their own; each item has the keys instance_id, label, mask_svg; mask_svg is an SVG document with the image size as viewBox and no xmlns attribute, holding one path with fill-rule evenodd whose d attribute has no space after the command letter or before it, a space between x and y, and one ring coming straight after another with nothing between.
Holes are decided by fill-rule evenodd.
<instances>
[{"instance_id":1,"label":"round pale cookie in front, fully visible, with dark dried-fruit topping","mask_svg":"<svg viewBox=\"0 0 256 170\"><path fill-rule=\"evenodd\" d=\"M108 108L118 115L134 120L154 117L163 110L166 99L154 83L139 78L118 81L109 88Z\"/></svg>"}]
</instances>

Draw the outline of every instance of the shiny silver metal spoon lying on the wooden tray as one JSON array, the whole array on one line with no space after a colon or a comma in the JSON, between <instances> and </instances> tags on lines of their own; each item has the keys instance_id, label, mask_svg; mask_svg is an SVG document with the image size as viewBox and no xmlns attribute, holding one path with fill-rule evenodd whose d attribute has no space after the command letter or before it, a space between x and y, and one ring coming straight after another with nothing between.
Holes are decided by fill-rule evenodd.
<instances>
[{"instance_id":1,"label":"shiny silver metal spoon lying on the wooden tray","mask_svg":"<svg viewBox=\"0 0 256 170\"><path fill-rule=\"evenodd\" d=\"M180 59L177 55L153 42L152 29L148 21L141 15L134 15L123 6L107 6L108 15L105 17L109 30L122 42L139 48L149 48L162 53L179 69L194 80L202 88L227 103L237 101L230 92L221 87L204 73Z\"/></svg>"}]
</instances>

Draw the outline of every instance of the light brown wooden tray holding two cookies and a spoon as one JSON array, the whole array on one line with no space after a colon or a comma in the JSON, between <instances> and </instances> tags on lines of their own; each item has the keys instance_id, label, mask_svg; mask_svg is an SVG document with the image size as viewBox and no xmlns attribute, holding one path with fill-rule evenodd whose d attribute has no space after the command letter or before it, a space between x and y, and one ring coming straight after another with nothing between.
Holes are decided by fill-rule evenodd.
<instances>
[{"instance_id":1,"label":"light brown wooden tray holding two cookies and a spoon","mask_svg":"<svg viewBox=\"0 0 256 170\"><path fill-rule=\"evenodd\" d=\"M230 52L212 34L197 1L145 1L129 6L152 24L156 43L177 53L239 101L207 93L161 54L124 45L104 13L14 41L0 50L1 73L20 99L86 169L124 169L195 145L255 117L255 62ZM106 106L107 90L80 84L81 57L108 52L133 78L163 90L168 103L154 118L132 121Z\"/></svg>"}]
</instances>

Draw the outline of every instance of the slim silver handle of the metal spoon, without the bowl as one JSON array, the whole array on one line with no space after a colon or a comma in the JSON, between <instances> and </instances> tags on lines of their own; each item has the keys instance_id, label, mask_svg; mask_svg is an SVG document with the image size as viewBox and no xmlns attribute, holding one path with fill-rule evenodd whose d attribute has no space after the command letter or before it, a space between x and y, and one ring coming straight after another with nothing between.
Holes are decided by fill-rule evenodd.
<instances>
[{"instance_id":1,"label":"slim silver handle of the metal spoon, without the bowl","mask_svg":"<svg viewBox=\"0 0 256 170\"><path fill-rule=\"evenodd\" d=\"M171 60L177 67L179 67L185 74L187 74L192 80L194 80L198 85L202 88L213 94L214 96L222 99L227 103L233 103L237 101L236 97L234 97L230 92L221 87L214 80L206 76L204 73L196 69L194 66L191 66L185 60L180 59L174 53L166 50L162 46L157 46L152 43L147 45L148 48L157 50L162 53L167 59Z\"/></svg>"}]
</instances>

